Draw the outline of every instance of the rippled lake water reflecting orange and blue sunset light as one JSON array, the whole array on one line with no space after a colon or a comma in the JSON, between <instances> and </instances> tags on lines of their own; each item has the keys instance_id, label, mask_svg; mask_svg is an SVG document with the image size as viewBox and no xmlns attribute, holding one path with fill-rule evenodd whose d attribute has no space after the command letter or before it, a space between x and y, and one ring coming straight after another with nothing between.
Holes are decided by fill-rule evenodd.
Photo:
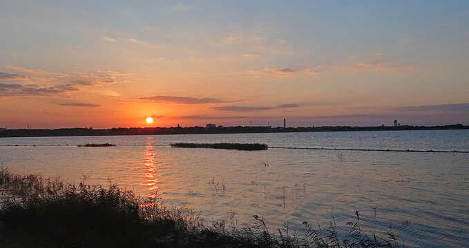
<instances>
[{"instance_id":1,"label":"rippled lake water reflecting orange and blue sunset light","mask_svg":"<svg viewBox=\"0 0 469 248\"><path fill-rule=\"evenodd\" d=\"M271 146L469 151L469 130L0 138L0 163L77 183L113 181L168 204L188 205L209 220L240 225L262 215L271 230L304 220L341 229L354 220L392 232L409 247L469 245L469 154L158 147L174 142ZM143 146L76 147L85 143Z\"/></svg>"}]
</instances>

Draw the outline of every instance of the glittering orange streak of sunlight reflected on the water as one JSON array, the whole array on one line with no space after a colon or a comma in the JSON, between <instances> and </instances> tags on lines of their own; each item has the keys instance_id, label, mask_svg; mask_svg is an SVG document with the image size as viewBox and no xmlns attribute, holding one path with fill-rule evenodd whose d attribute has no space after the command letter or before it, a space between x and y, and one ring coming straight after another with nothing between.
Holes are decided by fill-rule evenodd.
<instances>
[{"instance_id":1,"label":"glittering orange streak of sunlight reflected on the water","mask_svg":"<svg viewBox=\"0 0 469 248\"><path fill-rule=\"evenodd\" d=\"M145 181L142 185L146 186L149 194L146 196L149 198L155 198L158 196L158 179L156 174L156 164L155 164L155 150L153 150L152 138L146 140L146 149L145 149Z\"/></svg>"}]
</instances>

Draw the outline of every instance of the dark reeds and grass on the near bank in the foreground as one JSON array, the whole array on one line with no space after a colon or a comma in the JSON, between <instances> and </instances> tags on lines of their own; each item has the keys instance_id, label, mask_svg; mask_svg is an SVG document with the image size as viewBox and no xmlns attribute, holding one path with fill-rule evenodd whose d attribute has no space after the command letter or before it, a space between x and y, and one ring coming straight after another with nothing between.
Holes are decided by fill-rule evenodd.
<instances>
[{"instance_id":1,"label":"dark reeds and grass on the near bank in the foreground","mask_svg":"<svg viewBox=\"0 0 469 248\"><path fill-rule=\"evenodd\" d=\"M365 233L358 211L338 238L334 222L322 231L305 222L302 234L267 229L261 216L253 216L252 227L210 223L115 185L70 185L1 169L0 187L9 194L1 196L1 247L403 247L392 234Z\"/></svg>"}]
</instances>

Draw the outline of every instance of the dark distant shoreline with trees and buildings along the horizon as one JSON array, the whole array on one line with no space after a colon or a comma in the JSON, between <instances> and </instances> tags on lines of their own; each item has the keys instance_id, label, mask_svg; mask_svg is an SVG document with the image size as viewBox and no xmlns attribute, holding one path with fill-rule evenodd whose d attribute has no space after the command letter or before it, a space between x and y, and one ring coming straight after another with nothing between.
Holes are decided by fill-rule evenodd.
<instances>
[{"instance_id":1,"label":"dark distant shoreline with trees and buildings along the horizon","mask_svg":"<svg viewBox=\"0 0 469 248\"><path fill-rule=\"evenodd\" d=\"M93 129L89 127L59 129L17 129L0 130L2 137L40 137L40 136L116 136L116 135L162 135L162 134L243 134L277 132L350 132L350 131L403 131L403 130L469 130L469 125L454 124L441 126L324 126L324 127L115 127Z\"/></svg>"}]
</instances>

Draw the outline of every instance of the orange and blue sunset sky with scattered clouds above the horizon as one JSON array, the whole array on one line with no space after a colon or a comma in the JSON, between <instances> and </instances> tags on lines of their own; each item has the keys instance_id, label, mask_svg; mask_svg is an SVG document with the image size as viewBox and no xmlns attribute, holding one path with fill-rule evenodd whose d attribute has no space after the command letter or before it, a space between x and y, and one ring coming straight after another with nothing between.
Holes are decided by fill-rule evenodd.
<instances>
[{"instance_id":1,"label":"orange and blue sunset sky with scattered clouds above the horizon","mask_svg":"<svg viewBox=\"0 0 469 248\"><path fill-rule=\"evenodd\" d=\"M469 1L0 0L0 37L9 129L469 125Z\"/></svg>"}]
</instances>

